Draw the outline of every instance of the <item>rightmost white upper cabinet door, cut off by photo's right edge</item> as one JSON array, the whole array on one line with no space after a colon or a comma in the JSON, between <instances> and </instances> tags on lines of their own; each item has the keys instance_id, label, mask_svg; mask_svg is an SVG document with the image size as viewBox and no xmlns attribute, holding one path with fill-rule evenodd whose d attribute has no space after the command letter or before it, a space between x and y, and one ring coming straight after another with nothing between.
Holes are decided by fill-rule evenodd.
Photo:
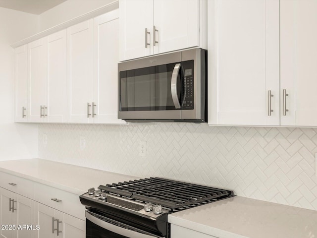
<instances>
[{"instance_id":1,"label":"rightmost white upper cabinet door, cut off by photo's right edge","mask_svg":"<svg viewBox=\"0 0 317 238\"><path fill-rule=\"evenodd\" d=\"M316 126L317 1L280 4L281 125Z\"/></svg>"}]
</instances>

